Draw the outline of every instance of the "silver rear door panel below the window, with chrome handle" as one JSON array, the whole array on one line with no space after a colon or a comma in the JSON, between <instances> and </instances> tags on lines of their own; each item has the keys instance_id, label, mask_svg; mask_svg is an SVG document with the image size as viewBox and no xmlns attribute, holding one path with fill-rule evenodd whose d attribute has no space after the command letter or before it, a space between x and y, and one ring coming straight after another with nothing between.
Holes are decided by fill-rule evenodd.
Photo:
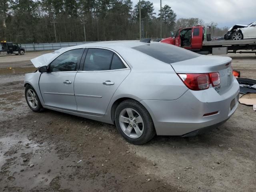
<instances>
[{"instance_id":1,"label":"silver rear door panel below the window, with chrome handle","mask_svg":"<svg viewBox=\"0 0 256 192\"><path fill-rule=\"evenodd\" d=\"M114 92L129 73L130 69L78 71L74 84L78 112L103 116Z\"/></svg>"}]
</instances>

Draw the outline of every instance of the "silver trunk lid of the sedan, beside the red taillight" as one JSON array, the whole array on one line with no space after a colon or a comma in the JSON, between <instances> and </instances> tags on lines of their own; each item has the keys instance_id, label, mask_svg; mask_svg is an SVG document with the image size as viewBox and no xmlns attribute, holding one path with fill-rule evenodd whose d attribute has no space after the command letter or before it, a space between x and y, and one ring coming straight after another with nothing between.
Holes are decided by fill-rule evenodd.
<instances>
[{"instance_id":1,"label":"silver trunk lid of the sedan, beside the red taillight","mask_svg":"<svg viewBox=\"0 0 256 192\"><path fill-rule=\"evenodd\" d=\"M222 94L228 91L233 82L231 61L232 59L226 56L200 56L172 63L171 66L178 74L219 72L220 85L214 88Z\"/></svg>"}]
</instances>

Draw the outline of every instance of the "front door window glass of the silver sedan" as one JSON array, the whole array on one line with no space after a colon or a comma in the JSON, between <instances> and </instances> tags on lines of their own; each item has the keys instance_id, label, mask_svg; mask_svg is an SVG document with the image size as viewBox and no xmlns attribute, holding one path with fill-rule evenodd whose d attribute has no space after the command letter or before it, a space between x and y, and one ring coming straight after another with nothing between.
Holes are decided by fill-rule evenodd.
<instances>
[{"instance_id":1,"label":"front door window glass of the silver sedan","mask_svg":"<svg viewBox=\"0 0 256 192\"><path fill-rule=\"evenodd\" d=\"M74 49L58 56L49 67L49 72L74 71L80 62L83 49Z\"/></svg>"}]
</instances>

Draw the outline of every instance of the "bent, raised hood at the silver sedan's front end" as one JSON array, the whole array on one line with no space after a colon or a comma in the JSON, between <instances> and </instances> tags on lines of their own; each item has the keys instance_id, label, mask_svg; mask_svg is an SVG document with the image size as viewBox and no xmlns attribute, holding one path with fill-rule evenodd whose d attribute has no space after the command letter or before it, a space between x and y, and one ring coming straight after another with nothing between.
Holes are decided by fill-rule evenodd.
<instances>
[{"instance_id":1,"label":"bent, raised hood at the silver sedan's front end","mask_svg":"<svg viewBox=\"0 0 256 192\"><path fill-rule=\"evenodd\" d=\"M30 61L32 62L32 64L38 68L38 67L42 67L42 66L46 66L49 64L49 62L56 57L58 54L60 54L61 52L63 52L64 50L66 50L67 48L61 48L58 50L55 50L53 53L47 53L47 54L43 54L39 57L36 57L34 59L31 59Z\"/></svg>"}]
</instances>

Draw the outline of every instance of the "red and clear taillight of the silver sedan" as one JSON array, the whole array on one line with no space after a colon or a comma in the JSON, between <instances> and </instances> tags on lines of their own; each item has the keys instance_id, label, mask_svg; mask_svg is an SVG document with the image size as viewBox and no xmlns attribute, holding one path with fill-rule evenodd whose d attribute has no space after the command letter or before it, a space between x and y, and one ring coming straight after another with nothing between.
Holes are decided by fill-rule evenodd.
<instances>
[{"instance_id":1,"label":"red and clear taillight of the silver sedan","mask_svg":"<svg viewBox=\"0 0 256 192\"><path fill-rule=\"evenodd\" d=\"M212 86L218 86L220 84L220 74L218 72L213 73L186 73L178 74L184 84L191 90L199 91L205 90Z\"/></svg>"}]
</instances>

